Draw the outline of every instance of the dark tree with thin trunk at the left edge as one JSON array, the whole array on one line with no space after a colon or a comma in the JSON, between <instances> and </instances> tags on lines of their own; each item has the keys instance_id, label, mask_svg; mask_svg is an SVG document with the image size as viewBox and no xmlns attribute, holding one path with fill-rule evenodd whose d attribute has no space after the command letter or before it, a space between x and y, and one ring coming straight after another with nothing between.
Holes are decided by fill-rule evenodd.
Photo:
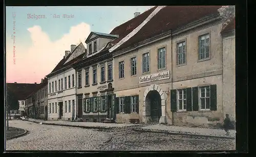
<instances>
[{"instance_id":1,"label":"dark tree with thin trunk at the left edge","mask_svg":"<svg viewBox=\"0 0 256 157\"><path fill-rule=\"evenodd\" d=\"M16 95L11 91L9 87L7 87L7 97L6 97L6 110L7 114L9 114L9 119L11 120L11 112L10 110L18 110L19 103ZM8 117L7 117L8 120ZM9 123L7 123L7 129L9 128Z\"/></svg>"}]
</instances>

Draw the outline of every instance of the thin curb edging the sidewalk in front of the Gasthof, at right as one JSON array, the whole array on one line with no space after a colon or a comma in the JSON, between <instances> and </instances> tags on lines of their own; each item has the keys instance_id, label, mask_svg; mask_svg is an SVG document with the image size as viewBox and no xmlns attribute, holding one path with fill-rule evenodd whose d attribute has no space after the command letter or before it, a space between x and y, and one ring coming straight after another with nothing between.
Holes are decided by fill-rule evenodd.
<instances>
[{"instance_id":1,"label":"thin curb edging the sidewalk in front of the Gasthof, at right","mask_svg":"<svg viewBox=\"0 0 256 157\"><path fill-rule=\"evenodd\" d=\"M232 139L233 137L221 137L221 136L211 136L204 134L189 134L189 133L178 133L178 132L169 132L169 131L156 131L156 130L145 130L145 129L133 129L134 131L139 132L154 132L154 133L166 133L166 134L174 134L174 135L184 135L184 136L196 136L196 137L206 137L206 138L218 138L218 139Z\"/></svg>"}]
</instances>

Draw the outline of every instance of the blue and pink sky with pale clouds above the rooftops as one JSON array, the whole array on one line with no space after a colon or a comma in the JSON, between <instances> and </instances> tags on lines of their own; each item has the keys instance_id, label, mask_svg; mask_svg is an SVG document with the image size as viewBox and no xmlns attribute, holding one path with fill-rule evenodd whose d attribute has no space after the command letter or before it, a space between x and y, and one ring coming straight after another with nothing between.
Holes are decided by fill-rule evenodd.
<instances>
[{"instance_id":1,"label":"blue and pink sky with pale clouds above the rooftops","mask_svg":"<svg viewBox=\"0 0 256 157\"><path fill-rule=\"evenodd\" d=\"M91 31L110 33L152 7L6 7L6 82L40 83L71 44L86 47Z\"/></svg>"}]
</instances>

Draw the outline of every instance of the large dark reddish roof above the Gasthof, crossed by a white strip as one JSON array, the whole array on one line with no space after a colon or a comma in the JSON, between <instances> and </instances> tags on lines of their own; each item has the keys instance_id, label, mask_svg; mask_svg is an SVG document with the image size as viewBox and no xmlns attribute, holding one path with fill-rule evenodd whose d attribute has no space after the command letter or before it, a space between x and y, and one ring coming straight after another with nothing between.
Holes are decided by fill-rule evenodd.
<instances>
[{"instance_id":1,"label":"large dark reddish roof above the Gasthof, crossed by a white strip","mask_svg":"<svg viewBox=\"0 0 256 157\"><path fill-rule=\"evenodd\" d=\"M115 44L119 42L123 37L132 32L156 8L157 6L116 27L111 34L117 34L119 35L119 38L114 40L112 43ZM135 43L157 34L161 34L169 30L176 30L205 16L219 14L219 8L221 8L221 6L166 6L162 8L154 17L152 17L152 19L148 21L146 25L142 27L134 36L124 42L115 51L130 47ZM127 26L132 26L132 29L127 30Z\"/></svg>"}]
</instances>

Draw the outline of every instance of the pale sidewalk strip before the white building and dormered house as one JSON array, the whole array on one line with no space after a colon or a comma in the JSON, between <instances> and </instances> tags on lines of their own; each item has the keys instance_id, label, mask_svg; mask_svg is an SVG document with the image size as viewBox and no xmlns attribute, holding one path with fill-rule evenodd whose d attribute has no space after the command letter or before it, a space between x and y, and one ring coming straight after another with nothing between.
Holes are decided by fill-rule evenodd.
<instances>
[{"instance_id":1,"label":"pale sidewalk strip before the white building and dormered house","mask_svg":"<svg viewBox=\"0 0 256 157\"><path fill-rule=\"evenodd\" d=\"M81 128L113 128L113 127L125 127L125 126L134 126L140 124L125 124L125 123L97 123L97 122L70 122L70 121L45 121L45 120L36 120L28 119L27 121L48 124L48 125L61 125L61 126L73 126Z\"/></svg>"}]
</instances>

